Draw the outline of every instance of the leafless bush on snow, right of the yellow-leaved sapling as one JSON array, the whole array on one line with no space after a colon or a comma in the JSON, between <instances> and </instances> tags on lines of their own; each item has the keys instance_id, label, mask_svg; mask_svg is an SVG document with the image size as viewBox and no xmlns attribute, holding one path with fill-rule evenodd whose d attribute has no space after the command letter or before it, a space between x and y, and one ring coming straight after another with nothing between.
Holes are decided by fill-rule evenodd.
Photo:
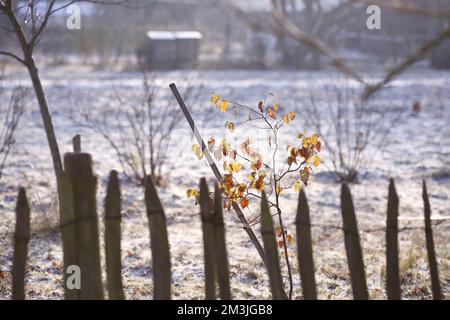
<instances>
[{"instance_id":1,"label":"leafless bush on snow, right of the yellow-leaved sapling","mask_svg":"<svg viewBox=\"0 0 450 320\"><path fill-rule=\"evenodd\" d=\"M336 79L321 89L310 89L309 99L297 99L323 140L339 181L358 180L360 170L388 143L404 110L362 99L362 90L362 86Z\"/></svg>"}]
</instances>

